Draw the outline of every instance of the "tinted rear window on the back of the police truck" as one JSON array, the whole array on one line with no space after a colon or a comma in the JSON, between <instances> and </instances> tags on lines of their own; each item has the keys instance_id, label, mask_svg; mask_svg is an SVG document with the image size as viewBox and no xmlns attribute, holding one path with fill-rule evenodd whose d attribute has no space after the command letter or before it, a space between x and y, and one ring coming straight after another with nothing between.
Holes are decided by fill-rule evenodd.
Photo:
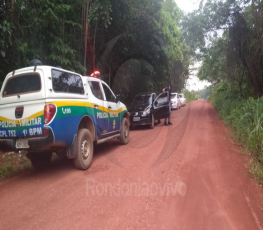
<instances>
[{"instance_id":1,"label":"tinted rear window on the back of the police truck","mask_svg":"<svg viewBox=\"0 0 263 230\"><path fill-rule=\"evenodd\" d=\"M3 90L3 97L33 93L41 90L38 74L19 75L10 78Z\"/></svg>"}]
</instances>

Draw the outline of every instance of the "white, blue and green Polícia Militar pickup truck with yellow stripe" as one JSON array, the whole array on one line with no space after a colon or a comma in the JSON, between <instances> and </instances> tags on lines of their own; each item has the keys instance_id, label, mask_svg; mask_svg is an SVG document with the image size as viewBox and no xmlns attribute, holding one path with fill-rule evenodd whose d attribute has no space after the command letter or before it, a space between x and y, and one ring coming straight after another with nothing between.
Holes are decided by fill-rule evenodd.
<instances>
[{"instance_id":1,"label":"white, blue and green Pol\u00edcia Militar pickup truck with yellow stripe","mask_svg":"<svg viewBox=\"0 0 263 230\"><path fill-rule=\"evenodd\" d=\"M95 72L91 76L44 66L39 60L9 73L0 93L0 150L25 153L41 169L52 153L91 165L93 146L129 142L129 113Z\"/></svg>"}]
</instances>

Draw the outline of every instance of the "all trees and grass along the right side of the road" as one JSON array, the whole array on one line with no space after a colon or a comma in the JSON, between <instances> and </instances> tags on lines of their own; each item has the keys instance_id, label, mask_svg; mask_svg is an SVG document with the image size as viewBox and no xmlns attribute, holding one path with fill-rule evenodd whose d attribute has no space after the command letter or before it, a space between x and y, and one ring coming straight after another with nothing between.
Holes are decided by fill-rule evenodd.
<instances>
[{"instance_id":1,"label":"all trees and grass along the right side of the road","mask_svg":"<svg viewBox=\"0 0 263 230\"><path fill-rule=\"evenodd\" d=\"M210 100L233 135L255 155L262 181L263 2L209 0L184 16L183 31L198 77L212 83ZM260 176L261 174L261 176Z\"/></svg>"}]
</instances>

